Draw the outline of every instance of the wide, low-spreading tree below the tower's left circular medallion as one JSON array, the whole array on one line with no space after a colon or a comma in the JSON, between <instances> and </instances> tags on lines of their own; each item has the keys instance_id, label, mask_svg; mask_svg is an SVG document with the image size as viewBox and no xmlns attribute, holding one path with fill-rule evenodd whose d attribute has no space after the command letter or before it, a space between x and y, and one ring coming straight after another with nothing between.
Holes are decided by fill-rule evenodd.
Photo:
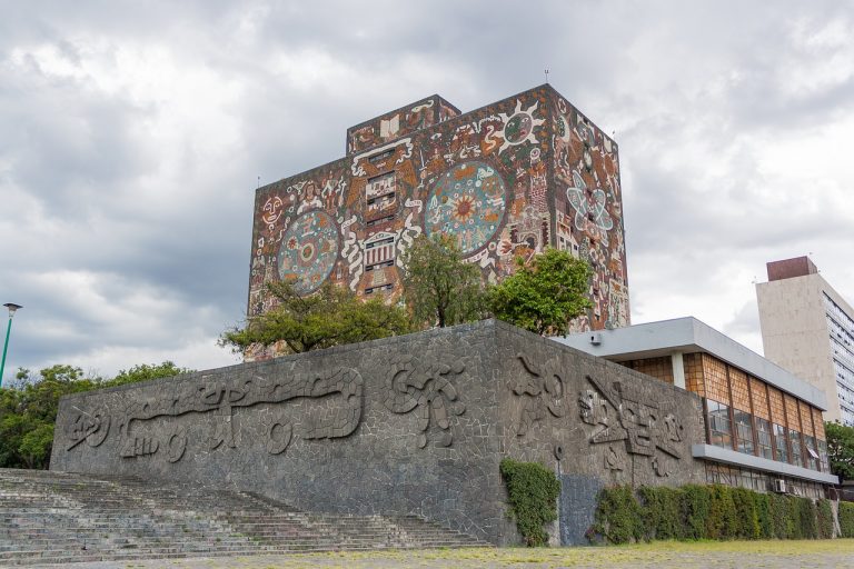
<instances>
[{"instance_id":1,"label":"wide, low-spreading tree below the tower's left circular medallion","mask_svg":"<svg viewBox=\"0 0 854 569\"><path fill-rule=\"evenodd\" d=\"M278 306L249 318L244 329L226 331L220 346L241 351L255 343L284 341L291 352L300 353L410 331L403 308L387 306L379 298L363 302L350 289L330 281L308 296L298 295L289 281L271 282L268 291Z\"/></svg>"}]
</instances>

